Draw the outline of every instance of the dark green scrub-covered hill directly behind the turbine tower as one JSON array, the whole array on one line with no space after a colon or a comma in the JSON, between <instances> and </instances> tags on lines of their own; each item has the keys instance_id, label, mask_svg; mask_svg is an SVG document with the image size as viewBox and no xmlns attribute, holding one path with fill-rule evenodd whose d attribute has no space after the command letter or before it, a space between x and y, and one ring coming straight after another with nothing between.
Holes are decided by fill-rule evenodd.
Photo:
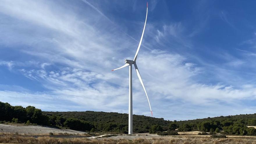
<instances>
[{"instance_id":1,"label":"dark green scrub-covered hill directly behind the turbine tower","mask_svg":"<svg viewBox=\"0 0 256 144\"><path fill-rule=\"evenodd\" d=\"M93 125L101 125L105 123L128 127L128 114L114 112L95 112L95 111L73 111L73 112L49 112L44 111L45 115L56 115L67 118L76 118ZM152 118L144 115L133 115L134 132L147 132L152 125L161 125L164 130L168 129L170 121L163 118ZM101 128L97 128L101 129Z\"/></svg>"}]
</instances>

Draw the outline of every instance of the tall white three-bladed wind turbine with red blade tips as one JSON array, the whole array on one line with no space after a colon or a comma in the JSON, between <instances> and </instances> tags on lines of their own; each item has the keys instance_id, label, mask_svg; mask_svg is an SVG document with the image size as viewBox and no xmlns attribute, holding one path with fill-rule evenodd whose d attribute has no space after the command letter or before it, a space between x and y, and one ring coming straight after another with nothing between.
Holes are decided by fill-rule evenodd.
<instances>
[{"instance_id":1,"label":"tall white three-bladed wind turbine with red blade tips","mask_svg":"<svg viewBox=\"0 0 256 144\"><path fill-rule=\"evenodd\" d=\"M148 5L147 5L147 8L148 8ZM145 94L147 96L147 92L146 92L146 89L145 89L145 86L143 84L143 81L141 79L141 75L140 75L140 72L138 70L138 67L136 65L136 59L137 59L137 56L138 56L138 52L140 50L140 47L141 47L141 42L142 42L142 38L143 38L143 35L144 35L144 31L145 31L145 26L146 26L146 22L147 22L147 13L146 13L146 19L145 19L145 24L144 24L144 28L143 28L143 31L142 31L142 35L141 35L141 40L140 40L140 43L138 45L138 48L137 48L137 51L136 51L136 54L134 56L134 59L133 60L125 60L125 65L117 68L117 69L114 69L114 70L119 70L121 68L124 68L124 67L127 67L129 66L129 134L132 134L132 65L134 64L134 67L135 67L135 70L136 70L136 73L138 75L138 78L141 82L141 85L145 91ZM112 71L114 71L112 70ZM150 106L150 102L149 102L149 99L148 99L148 96L147 96L147 101L148 101L148 104L149 104L149 107L150 107L150 112L151 112L151 115L153 116L153 113L152 113L152 110L151 110L151 106Z\"/></svg>"}]
</instances>

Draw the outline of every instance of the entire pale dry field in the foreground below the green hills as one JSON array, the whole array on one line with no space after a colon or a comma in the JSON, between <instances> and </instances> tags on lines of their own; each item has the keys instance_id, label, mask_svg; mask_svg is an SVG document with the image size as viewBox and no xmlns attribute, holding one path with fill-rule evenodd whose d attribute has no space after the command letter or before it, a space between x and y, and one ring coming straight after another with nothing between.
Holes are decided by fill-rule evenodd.
<instances>
[{"instance_id":1,"label":"entire pale dry field in the foreground below the green hills","mask_svg":"<svg viewBox=\"0 0 256 144\"><path fill-rule=\"evenodd\" d=\"M256 144L254 136L227 136L210 138L197 135L200 131L179 132L178 136L157 134L88 134L81 131L54 129L40 126L0 124L0 143L28 144ZM101 136L99 136L101 135Z\"/></svg>"}]
</instances>

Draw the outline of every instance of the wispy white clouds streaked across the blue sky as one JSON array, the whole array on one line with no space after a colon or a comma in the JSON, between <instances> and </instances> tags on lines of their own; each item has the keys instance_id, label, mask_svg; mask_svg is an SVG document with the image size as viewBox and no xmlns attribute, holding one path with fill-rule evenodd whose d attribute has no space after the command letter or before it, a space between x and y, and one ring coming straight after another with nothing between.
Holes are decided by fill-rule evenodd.
<instances>
[{"instance_id":1,"label":"wispy white clouds streaked across the blue sky","mask_svg":"<svg viewBox=\"0 0 256 144\"><path fill-rule=\"evenodd\" d=\"M15 69L47 88L44 92L24 93L2 90L1 101L14 105L35 105L44 110L127 112L128 69L115 72L110 70L122 65L125 58L134 56L137 42L113 26L106 16L102 18L99 9L90 4L89 6L90 8L84 8L85 12L81 16L76 13L76 6L65 7L55 1L1 1L0 13L11 17L13 25L19 27L0 28L3 37L8 38L1 41L1 44L12 47L25 45L19 48L19 52L38 61L31 60L33 64L30 67L25 65L27 61L15 61L14 66L13 61L4 61L0 65L7 65L9 69ZM149 29L154 28L150 23L147 26ZM162 29L151 33L154 33L158 43L171 39L179 43L177 47L182 45L191 48L192 44L184 37L184 31L184 26L179 22L164 25ZM143 42L147 42L147 46L153 43L147 40L146 33ZM157 117L172 119L168 115L176 113L173 106L177 109L184 106L184 111L195 113L198 109L193 110L191 107L197 105L207 108L220 106L220 102L223 102L230 104L226 106L228 109L236 100L255 100L255 86L251 84L232 87L225 83L200 82L198 78L205 73L205 67L199 67L180 54L160 49L141 49L136 63ZM239 61L230 63L240 64ZM47 65L52 65L51 69ZM150 115L144 91L135 72L133 79L134 112ZM56 101L61 103L55 105ZM65 108L67 104L69 106ZM202 113L206 114L203 110Z\"/></svg>"}]
</instances>

